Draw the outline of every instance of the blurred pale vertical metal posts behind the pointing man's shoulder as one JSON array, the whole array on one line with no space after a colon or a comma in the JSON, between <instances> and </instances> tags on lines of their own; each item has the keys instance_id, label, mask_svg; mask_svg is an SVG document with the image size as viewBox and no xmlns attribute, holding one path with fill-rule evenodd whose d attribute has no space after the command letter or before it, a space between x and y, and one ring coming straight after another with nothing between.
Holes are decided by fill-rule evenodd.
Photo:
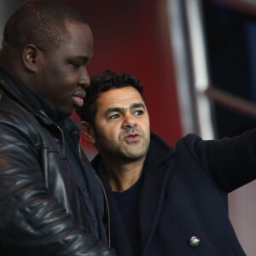
<instances>
[{"instance_id":1,"label":"blurred pale vertical metal posts behind the pointing man's shoulder","mask_svg":"<svg viewBox=\"0 0 256 256\"><path fill-rule=\"evenodd\" d=\"M214 137L201 0L169 0L170 37L177 77L183 134Z\"/></svg>"}]
</instances>

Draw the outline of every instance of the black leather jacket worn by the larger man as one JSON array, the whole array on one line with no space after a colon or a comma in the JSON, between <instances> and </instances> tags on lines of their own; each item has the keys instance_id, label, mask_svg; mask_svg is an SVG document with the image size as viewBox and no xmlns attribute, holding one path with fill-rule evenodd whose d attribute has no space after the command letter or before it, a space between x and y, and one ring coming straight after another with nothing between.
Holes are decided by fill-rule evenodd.
<instances>
[{"instance_id":1,"label":"black leather jacket worn by the larger man","mask_svg":"<svg viewBox=\"0 0 256 256\"><path fill-rule=\"evenodd\" d=\"M97 186L102 194L79 150L77 125L71 119L57 125L27 104L17 86L0 73L0 255L114 255L99 213L104 202L95 207L89 191L84 207L65 152L62 127L73 134L80 165L90 172L85 189Z\"/></svg>"}]
</instances>

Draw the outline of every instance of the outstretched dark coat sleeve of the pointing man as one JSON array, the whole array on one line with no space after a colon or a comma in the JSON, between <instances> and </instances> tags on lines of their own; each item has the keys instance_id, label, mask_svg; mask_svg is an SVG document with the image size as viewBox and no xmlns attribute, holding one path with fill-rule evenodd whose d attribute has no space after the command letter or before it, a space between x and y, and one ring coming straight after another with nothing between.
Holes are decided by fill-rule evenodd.
<instances>
[{"instance_id":1,"label":"outstretched dark coat sleeve of the pointing man","mask_svg":"<svg viewBox=\"0 0 256 256\"><path fill-rule=\"evenodd\" d=\"M230 192L256 178L256 130L241 136L203 141L188 135L179 142L225 192ZM182 146L182 148L183 148Z\"/></svg>"}]
</instances>

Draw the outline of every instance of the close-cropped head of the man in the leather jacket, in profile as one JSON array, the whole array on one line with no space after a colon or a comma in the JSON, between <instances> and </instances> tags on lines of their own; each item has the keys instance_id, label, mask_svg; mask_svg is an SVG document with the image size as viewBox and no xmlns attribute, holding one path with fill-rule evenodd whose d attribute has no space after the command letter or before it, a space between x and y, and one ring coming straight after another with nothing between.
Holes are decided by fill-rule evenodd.
<instances>
[{"instance_id":1,"label":"close-cropped head of the man in the leather jacket, in profile","mask_svg":"<svg viewBox=\"0 0 256 256\"><path fill-rule=\"evenodd\" d=\"M4 29L0 67L61 114L83 103L93 58L90 26L74 9L55 1L26 3Z\"/></svg>"}]
</instances>

